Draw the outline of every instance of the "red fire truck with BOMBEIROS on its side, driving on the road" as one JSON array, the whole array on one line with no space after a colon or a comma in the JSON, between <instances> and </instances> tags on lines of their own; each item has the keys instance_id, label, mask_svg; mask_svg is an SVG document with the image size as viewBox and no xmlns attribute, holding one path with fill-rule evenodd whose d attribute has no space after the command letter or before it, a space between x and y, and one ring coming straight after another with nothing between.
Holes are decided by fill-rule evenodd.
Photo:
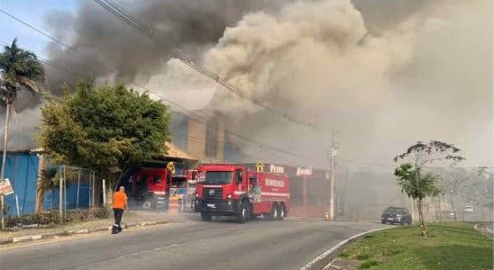
<instances>
[{"instance_id":1,"label":"red fire truck with BOMBEIROS on its side, driving on the road","mask_svg":"<svg viewBox=\"0 0 494 270\"><path fill-rule=\"evenodd\" d=\"M195 210L201 220L212 216L236 216L244 223L267 215L283 220L289 208L288 176L257 172L242 165L210 164L199 166Z\"/></svg>"}]
</instances>

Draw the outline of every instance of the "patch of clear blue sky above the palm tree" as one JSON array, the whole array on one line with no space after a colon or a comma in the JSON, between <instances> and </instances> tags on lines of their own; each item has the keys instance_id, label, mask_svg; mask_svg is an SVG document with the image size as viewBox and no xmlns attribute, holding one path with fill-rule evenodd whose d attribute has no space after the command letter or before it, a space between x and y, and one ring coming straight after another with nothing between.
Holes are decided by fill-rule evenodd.
<instances>
[{"instance_id":1,"label":"patch of clear blue sky above the palm tree","mask_svg":"<svg viewBox=\"0 0 494 270\"><path fill-rule=\"evenodd\" d=\"M75 14L77 8L78 0L0 0L0 9L48 33L45 20L52 12ZM14 38L23 49L46 57L44 49L50 42L47 37L0 13L0 40L10 43Z\"/></svg>"}]
</instances>

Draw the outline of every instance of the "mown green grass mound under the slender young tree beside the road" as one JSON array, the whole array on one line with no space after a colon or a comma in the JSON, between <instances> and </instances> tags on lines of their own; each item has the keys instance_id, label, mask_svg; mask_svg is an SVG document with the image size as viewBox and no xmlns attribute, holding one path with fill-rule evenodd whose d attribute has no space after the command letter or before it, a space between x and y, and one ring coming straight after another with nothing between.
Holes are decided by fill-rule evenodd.
<instances>
[{"instance_id":1,"label":"mown green grass mound under the slender young tree beside the road","mask_svg":"<svg viewBox=\"0 0 494 270\"><path fill-rule=\"evenodd\" d=\"M417 226L386 229L347 247L340 257L371 269L492 269L493 241L462 222L430 224L429 237Z\"/></svg>"}]
</instances>

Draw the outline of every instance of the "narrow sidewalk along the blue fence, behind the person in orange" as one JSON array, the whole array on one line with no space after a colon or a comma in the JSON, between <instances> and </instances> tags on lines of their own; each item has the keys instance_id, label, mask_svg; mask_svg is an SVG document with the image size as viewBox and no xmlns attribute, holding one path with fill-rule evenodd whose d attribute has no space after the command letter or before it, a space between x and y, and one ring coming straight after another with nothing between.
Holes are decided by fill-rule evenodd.
<instances>
[{"instance_id":1,"label":"narrow sidewalk along the blue fence, behind the person in orange","mask_svg":"<svg viewBox=\"0 0 494 270\"><path fill-rule=\"evenodd\" d=\"M164 224L169 222L166 212L158 211L130 211L123 213L122 225L124 228ZM89 220L72 222L69 224L53 224L48 228L18 229L0 231L0 245L32 241L41 238L59 238L74 234L91 233L108 230L114 224L113 213L104 220Z\"/></svg>"}]
</instances>

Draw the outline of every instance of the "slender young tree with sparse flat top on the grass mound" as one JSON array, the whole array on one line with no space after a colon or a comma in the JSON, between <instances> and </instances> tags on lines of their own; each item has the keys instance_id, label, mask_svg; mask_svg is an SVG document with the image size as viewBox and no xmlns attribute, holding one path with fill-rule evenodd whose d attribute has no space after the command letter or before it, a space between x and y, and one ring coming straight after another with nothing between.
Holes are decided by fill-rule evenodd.
<instances>
[{"instance_id":1,"label":"slender young tree with sparse flat top on the grass mound","mask_svg":"<svg viewBox=\"0 0 494 270\"><path fill-rule=\"evenodd\" d=\"M398 184L402 187L402 192L407 193L409 197L416 201L418 220L421 233L424 237L427 236L427 227L424 218L424 199L429 196L435 196L440 192L437 186L438 176L432 173L425 173L425 166L448 160L460 162L465 159L456 155L460 151L460 148L438 140L430 140L428 142L418 141L416 144L407 148L405 153L393 159L395 162L405 159L411 161L398 166L395 170L395 176L397 176Z\"/></svg>"}]
</instances>

